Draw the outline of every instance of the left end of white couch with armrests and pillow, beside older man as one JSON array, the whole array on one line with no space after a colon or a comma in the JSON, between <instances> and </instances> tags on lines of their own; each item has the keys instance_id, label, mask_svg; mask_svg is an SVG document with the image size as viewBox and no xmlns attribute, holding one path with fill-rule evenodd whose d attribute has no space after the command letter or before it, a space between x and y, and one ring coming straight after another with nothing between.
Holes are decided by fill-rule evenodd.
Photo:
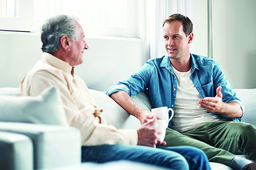
<instances>
[{"instance_id":1,"label":"left end of white couch with armrests and pillow, beside older man","mask_svg":"<svg viewBox=\"0 0 256 170\"><path fill-rule=\"evenodd\" d=\"M68 126L58 89L18 95L18 88L0 88L0 169L81 164L81 134Z\"/></svg>"}]
</instances>

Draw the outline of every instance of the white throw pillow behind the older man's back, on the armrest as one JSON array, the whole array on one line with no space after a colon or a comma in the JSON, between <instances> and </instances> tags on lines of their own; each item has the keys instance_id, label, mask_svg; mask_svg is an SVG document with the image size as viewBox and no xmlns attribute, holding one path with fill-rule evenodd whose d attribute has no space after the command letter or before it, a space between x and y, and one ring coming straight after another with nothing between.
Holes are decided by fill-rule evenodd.
<instances>
[{"instance_id":1,"label":"white throw pillow behind the older man's back, on the armrest","mask_svg":"<svg viewBox=\"0 0 256 170\"><path fill-rule=\"evenodd\" d=\"M55 86L48 87L38 96L0 96L0 120L68 126Z\"/></svg>"}]
</instances>

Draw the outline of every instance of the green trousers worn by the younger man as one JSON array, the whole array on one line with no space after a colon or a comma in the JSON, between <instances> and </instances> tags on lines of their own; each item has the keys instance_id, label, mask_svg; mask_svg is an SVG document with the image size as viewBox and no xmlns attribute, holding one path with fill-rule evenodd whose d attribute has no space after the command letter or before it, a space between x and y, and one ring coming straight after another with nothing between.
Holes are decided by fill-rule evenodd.
<instances>
[{"instance_id":1,"label":"green trousers worn by the younger man","mask_svg":"<svg viewBox=\"0 0 256 170\"><path fill-rule=\"evenodd\" d=\"M247 159L256 160L256 127L229 118L182 133L167 128L164 141L167 145L163 147L184 145L202 149L210 162L227 166L235 155L245 154Z\"/></svg>"}]
</instances>

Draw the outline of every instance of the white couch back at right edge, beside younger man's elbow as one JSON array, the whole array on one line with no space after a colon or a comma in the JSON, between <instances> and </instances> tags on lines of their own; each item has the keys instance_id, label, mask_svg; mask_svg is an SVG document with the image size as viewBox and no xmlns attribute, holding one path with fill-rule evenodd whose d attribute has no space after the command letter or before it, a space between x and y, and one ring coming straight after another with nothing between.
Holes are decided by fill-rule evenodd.
<instances>
[{"instance_id":1,"label":"white couch back at right edge, beside younger man's elbow","mask_svg":"<svg viewBox=\"0 0 256 170\"><path fill-rule=\"evenodd\" d=\"M256 126L256 89L234 89L244 104L242 121Z\"/></svg>"}]
</instances>

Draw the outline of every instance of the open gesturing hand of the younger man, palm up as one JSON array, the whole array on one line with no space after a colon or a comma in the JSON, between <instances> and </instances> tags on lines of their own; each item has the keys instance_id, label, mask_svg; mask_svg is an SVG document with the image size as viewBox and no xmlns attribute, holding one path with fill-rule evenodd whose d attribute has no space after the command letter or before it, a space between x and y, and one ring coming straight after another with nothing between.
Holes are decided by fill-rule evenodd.
<instances>
[{"instance_id":1,"label":"open gesturing hand of the younger man, palm up","mask_svg":"<svg viewBox=\"0 0 256 170\"><path fill-rule=\"evenodd\" d=\"M216 89L217 95L215 97L205 97L204 99L199 99L199 106L207 110L208 112L222 112L223 101L222 93L220 92L221 86Z\"/></svg>"}]
</instances>

